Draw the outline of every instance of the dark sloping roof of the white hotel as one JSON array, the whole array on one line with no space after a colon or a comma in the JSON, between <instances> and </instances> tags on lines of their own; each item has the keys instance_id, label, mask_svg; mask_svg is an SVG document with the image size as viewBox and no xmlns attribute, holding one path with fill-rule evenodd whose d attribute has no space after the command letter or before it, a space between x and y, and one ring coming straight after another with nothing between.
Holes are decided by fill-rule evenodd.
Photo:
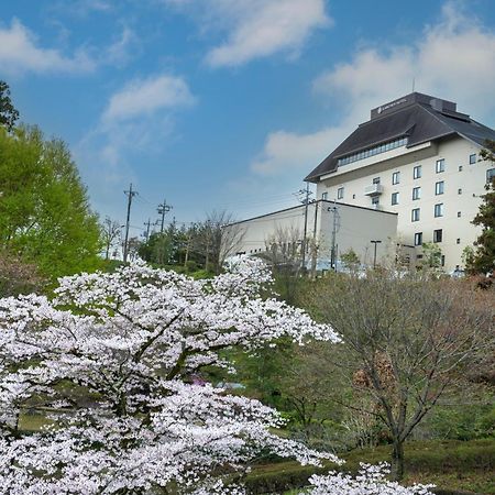
<instances>
[{"instance_id":1,"label":"dark sloping roof of the white hotel","mask_svg":"<svg viewBox=\"0 0 495 495\"><path fill-rule=\"evenodd\" d=\"M414 92L373 109L371 120L359 125L305 180L318 182L320 176L337 170L339 157L398 138L407 136L407 147L411 147L455 134L480 145L486 139L495 140L494 130L457 112L455 103Z\"/></svg>"}]
</instances>

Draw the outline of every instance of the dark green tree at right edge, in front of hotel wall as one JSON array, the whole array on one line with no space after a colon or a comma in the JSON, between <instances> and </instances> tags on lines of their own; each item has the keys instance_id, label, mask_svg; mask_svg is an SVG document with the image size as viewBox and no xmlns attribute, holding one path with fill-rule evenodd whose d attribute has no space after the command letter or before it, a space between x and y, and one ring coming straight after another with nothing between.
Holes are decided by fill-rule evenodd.
<instances>
[{"instance_id":1,"label":"dark green tree at right edge, in front of hotel wall","mask_svg":"<svg viewBox=\"0 0 495 495\"><path fill-rule=\"evenodd\" d=\"M482 150L481 156L485 161L495 162L495 141L486 141L486 147ZM482 228L482 233L474 242L476 249L468 263L470 273L495 271L495 178L486 184L485 189L483 202L473 220L473 224Z\"/></svg>"}]
</instances>

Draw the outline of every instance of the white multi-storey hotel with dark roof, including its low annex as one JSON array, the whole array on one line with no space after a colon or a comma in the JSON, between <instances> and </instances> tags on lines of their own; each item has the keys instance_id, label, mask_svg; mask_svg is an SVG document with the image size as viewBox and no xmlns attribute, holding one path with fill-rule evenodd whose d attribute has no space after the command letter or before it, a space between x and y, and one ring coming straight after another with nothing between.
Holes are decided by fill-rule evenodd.
<instances>
[{"instance_id":1,"label":"white multi-storey hotel with dark roof, including its low annex","mask_svg":"<svg viewBox=\"0 0 495 495\"><path fill-rule=\"evenodd\" d=\"M319 199L309 215L296 207L240 222L246 232L240 251L266 249L263 240L288 222L302 232L306 219L324 265L336 243L329 218L334 205L337 256L352 248L370 263L371 241L380 240L378 260L386 245L400 243L414 264L422 243L433 242L446 271L462 267L464 248L480 233L471 223L480 196L495 177L495 164L480 160L487 139L495 141L495 131L458 112L452 101L413 92L377 107L305 178L316 184Z\"/></svg>"}]
</instances>

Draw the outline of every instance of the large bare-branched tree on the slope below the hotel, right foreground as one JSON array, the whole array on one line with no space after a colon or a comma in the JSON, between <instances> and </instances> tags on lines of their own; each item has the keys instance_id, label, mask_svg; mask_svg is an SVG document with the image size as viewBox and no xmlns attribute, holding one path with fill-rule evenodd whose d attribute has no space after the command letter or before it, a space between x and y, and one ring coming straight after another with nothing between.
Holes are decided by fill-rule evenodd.
<instances>
[{"instance_id":1,"label":"large bare-branched tree on the slope below the hotel, right foreground","mask_svg":"<svg viewBox=\"0 0 495 495\"><path fill-rule=\"evenodd\" d=\"M360 399L346 406L387 427L393 475L400 480L404 442L415 427L493 353L494 292L373 271L361 279L340 275L316 283L305 298L343 337L348 352L337 364L358 397L374 405L365 411Z\"/></svg>"}]
</instances>

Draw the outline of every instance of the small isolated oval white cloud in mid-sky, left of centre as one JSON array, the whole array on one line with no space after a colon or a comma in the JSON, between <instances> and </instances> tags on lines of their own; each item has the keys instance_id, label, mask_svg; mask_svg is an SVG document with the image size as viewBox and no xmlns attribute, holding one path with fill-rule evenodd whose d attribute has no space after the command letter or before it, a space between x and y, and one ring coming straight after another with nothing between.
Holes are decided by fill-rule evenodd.
<instances>
[{"instance_id":1,"label":"small isolated oval white cloud in mid-sky, left of centre","mask_svg":"<svg viewBox=\"0 0 495 495\"><path fill-rule=\"evenodd\" d=\"M116 92L102 119L106 122L124 121L193 102L194 97L182 77L160 75L133 80Z\"/></svg>"}]
</instances>

